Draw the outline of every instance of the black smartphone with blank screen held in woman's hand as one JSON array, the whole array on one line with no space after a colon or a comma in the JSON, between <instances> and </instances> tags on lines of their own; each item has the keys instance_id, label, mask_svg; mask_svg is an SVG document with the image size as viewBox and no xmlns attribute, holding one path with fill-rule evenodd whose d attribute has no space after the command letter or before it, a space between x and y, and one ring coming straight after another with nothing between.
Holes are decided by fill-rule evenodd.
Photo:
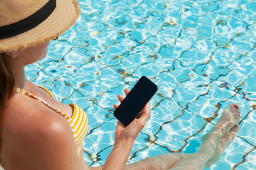
<instances>
[{"instance_id":1,"label":"black smartphone with blank screen held in woman's hand","mask_svg":"<svg viewBox=\"0 0 256 170\"><path fill-rule=\"evenodd\" d=\"M155 83L142 76L116 108L114 116L126 127L141 113L157 90Z\"/></svg>"}]
</instances>

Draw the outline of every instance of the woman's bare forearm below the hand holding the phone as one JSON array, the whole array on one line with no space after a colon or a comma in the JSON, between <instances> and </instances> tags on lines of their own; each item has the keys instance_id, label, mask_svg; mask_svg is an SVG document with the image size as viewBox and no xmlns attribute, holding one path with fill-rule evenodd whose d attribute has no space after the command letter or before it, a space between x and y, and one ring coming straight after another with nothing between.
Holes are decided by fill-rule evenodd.
<instances>
[{"instance_id":1,"label":"woman's bare forearm below the hand holding the phone","mask_svg":"<svg viewBox=\"0 0 256 170\"><path fill-rule=\"evenodd\" d=\"M135 139L120 139L118 142L116 142L112 151L107 157L102 170L124 169L132 150L134 141Z\"/></svg>"}]
</instances>

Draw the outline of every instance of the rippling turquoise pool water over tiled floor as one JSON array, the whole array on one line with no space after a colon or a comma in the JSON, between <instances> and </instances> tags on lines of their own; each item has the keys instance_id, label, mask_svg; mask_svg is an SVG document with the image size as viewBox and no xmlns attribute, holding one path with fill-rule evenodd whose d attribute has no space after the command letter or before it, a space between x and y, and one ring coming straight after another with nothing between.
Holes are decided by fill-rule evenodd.
<instances>
[{"instance_id":1,"label":"rippling turquoise pool water over tiled floor","mask_svg":"<svg viewBox=\"0 0 256 170\"><path fill-rule=\"evenodd\" d=\"M25 69L56 100L87 113L83 148L89 166L103 165L113 147L117 95L125 96L123 90L145 75L159 90L129 163L195 152L223 109L237 102L238 135L205 169L256 169L256 1L79 2L76 24Z\"/></svg>"}]
</instances>

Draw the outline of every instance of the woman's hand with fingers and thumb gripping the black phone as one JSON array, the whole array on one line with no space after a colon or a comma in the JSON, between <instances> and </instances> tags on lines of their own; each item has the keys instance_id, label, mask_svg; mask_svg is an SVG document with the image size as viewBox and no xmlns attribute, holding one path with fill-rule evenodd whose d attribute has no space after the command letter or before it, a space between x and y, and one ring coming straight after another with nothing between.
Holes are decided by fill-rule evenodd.
<instances>
[{"instance_id":1,"label":"woman's hand with fingers and thumb gripping the black phone","mask_svg":"<svg viewBox=\"0 0 256 170\"><path fill-rule=\"evenodd\" d=\"M128 93L130 92L129 89L124 89L124 93L127 96ZM119 94L118 99L120 102L122 102L124 100L124 97ZM116 103L114 103L114 109L116 110L116 108L118 107L118 105ZM115 142L118 142L120 139L133 139L135 140L135 138L138 136L138 134L140 133L140 131L143 129L143 127L145 126L147 119L150 117L150 111L149 111L149 103L147 103L142 112L140 113L140 115L138 115L137 118L135 118L128 126L124 127L124 125L122 125L119 121L117 122L116 125L116 130L115 130Z\"/></svg>"}]
</instances>

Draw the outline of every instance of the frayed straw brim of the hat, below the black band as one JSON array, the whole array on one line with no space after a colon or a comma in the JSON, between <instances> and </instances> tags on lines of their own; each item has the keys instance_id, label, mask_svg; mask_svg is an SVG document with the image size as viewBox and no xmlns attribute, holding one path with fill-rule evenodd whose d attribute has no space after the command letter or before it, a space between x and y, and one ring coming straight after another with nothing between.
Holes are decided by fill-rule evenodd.
<instances>
[{"instance_id":1,"label":"frayed straw brim of the hat, below the black band","mask_svg":"<svg viewBox=\"0 0 256 170\"><path fill-rule=\"evenodd\" d=\"M56 0L56 8L38 26L13 37L0 39L0 53L25 49L55 39L68 30L80 15L76 0Z\"/></svg>"}]
</instances>

